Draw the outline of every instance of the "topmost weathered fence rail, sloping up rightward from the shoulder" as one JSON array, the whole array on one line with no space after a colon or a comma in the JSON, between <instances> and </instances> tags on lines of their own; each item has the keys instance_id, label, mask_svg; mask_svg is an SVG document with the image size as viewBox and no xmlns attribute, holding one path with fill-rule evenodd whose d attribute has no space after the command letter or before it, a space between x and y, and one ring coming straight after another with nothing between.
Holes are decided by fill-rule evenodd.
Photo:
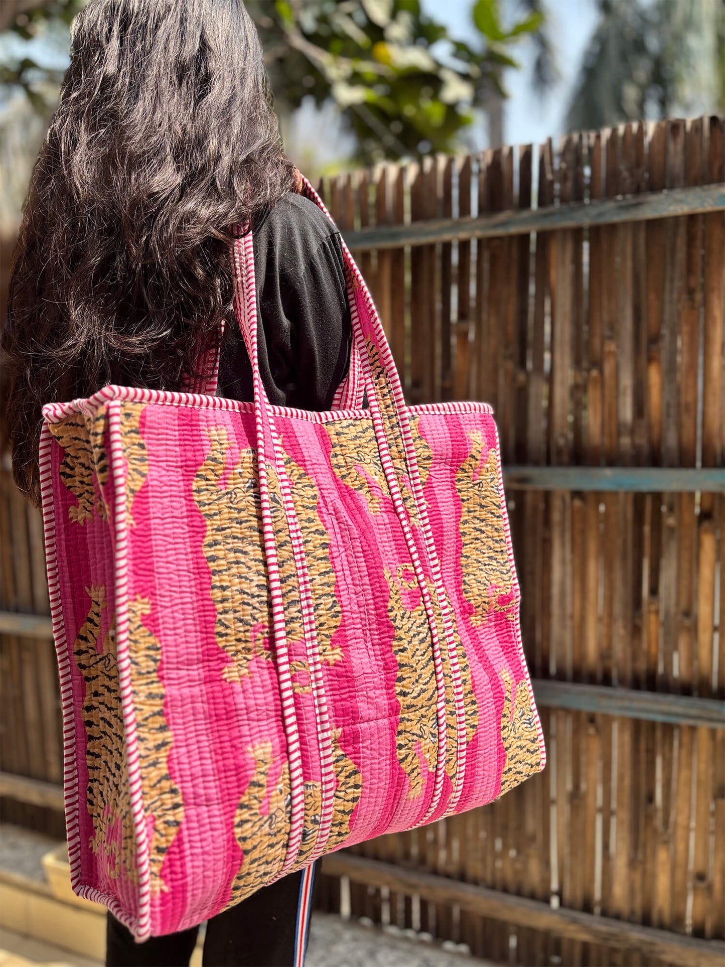
<instances>
[{"instance_id":1,"label":"topmost weathered fence rail, sloping up rightward from the shoulder","mask_svg":"<svg viewBox=\"0 0 725 967\"><path fill-rule=\"evenodd\" d=\"M527 235L561 228L586 228L622 221L652 221L677 215L725 210L725 185L696 185L620 198L574 202L461 219L429 219L403 225L375 225L343 232L350 249L400 249L404 246L465 242Z\"/></svg>"}]
</instances>

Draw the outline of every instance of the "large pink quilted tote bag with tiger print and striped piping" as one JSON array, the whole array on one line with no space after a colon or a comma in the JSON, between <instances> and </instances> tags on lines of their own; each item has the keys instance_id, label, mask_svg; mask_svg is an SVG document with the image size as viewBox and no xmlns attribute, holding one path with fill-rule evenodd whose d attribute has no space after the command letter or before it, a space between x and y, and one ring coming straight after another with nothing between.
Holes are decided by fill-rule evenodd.
<instances>
[{"instance_id":1,"label":"large pink quilted tote bag with tiger print and striped piping","mask_svg":"<svg viewBox=\"0 0 725 967\"><path fill-rule=\"evenodd\" d=\"M345 258L367 408L269 403L247 234L253 403L212 375L43 411L73 890L139 940L544 766L491 409L406 406Z\"/></svg>"}]
</instances>

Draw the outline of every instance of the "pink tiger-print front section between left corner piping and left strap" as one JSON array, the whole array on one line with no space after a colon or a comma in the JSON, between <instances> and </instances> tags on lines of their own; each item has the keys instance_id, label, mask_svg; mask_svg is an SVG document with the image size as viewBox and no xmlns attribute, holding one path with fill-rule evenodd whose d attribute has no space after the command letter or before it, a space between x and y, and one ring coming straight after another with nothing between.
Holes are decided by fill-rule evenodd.
<instances>
[{"instance_id":1,"label":"pink tiger-print front section between left corner piping and left strap","mask_svg":"<svg viewBox=\"0 0 725 967\"><path fill-rule=\"evenodd\" d=\"M125 402L121 425L131 681L160 935L275 876L289 835L287 749L253 415Z\"/></svg>"}]
</instances>

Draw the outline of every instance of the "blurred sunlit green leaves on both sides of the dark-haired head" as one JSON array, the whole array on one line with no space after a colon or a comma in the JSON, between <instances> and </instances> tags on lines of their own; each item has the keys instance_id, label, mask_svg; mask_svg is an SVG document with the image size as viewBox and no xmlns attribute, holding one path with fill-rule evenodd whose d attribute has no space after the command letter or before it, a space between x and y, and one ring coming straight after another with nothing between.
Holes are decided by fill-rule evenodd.
<instances>
[{"instance_id":1,"label":"blurred sunlit green leaves on both sides of the dark-haired head","mask_svg":"<svg viewBox=\"0 0 725 967\"><path fill-rule=\"evenodd\" d=\"M84 0L4 0L23 38L43 21L69 25ZM505 96L502 75L517 67L511 49L545 33L540 2L471 0L471 36L449 37L420 0L246 0L265 50L277 108L311 96L330 99L356 136L359 161L451 151L476 108ZM8 8L6 8L6 11ZM1 21L0 21L1 23ZM542 48L543 49L543 48ZM32 58L0 64L0 82L21 87L38 111L60 82Z\"/></svg>"}]
</instances>

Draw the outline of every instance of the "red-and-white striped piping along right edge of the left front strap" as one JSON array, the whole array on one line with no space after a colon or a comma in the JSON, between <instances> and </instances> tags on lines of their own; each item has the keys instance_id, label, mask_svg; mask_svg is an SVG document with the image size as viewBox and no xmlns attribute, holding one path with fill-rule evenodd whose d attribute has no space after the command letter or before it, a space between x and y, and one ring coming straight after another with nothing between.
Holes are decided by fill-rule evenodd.
<instances>
[{"instance_id":1,"label":"red-and-white striped piping along right edge of the left front strap","mask_svg":"<svg viewBox=\"0 0 725 967\"><path fill-rule=\"evenodd\" d=\"M322 660L320 659L320 646L317 640L317 629L315 627L312 589L309 584L309 572L307 571L307 561L304 554L304 540L300 530L300 522L297 519L295 505L292 501L289 479L284 468L282 448L274 428L272 435L275 444L279 487L282 492L282 502L287 517L290 542L292 543L292 554L295 560L297 579L300 586L300 604L302 606L304 627L304 651L307 658L310 684L312 686L312 702L315 709L317 743L320 754L320 825L317 828L315 848L308 860L309 863L313 863L324 851L328 835L330 834L330 828L333 824L334 790L336 785L333 764L333 737L327 698L325 696L325 684L322 678Z\"/></svg>"}]
</instances>

